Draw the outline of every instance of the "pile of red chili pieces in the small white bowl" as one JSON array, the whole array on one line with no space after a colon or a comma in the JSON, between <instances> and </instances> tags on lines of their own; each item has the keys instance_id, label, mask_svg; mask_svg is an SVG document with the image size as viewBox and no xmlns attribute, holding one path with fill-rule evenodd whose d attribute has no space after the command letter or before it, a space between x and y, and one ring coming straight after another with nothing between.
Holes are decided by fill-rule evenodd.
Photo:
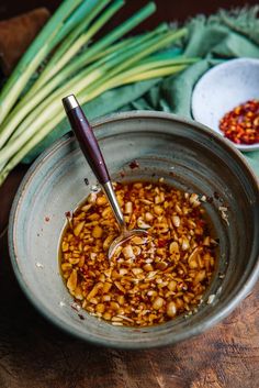
<instances>
[{"instance_id":1,"label":"pile of red chili pieces in the small white bowl","mask_svg":"<svg viewBox=\"0 0 259 388\"><path fill-rule=\"evenodd\" d=\"M236 144L259 143L259 100L249 100L226 113L219 129Z\"/></svg>"}]
</instances>

